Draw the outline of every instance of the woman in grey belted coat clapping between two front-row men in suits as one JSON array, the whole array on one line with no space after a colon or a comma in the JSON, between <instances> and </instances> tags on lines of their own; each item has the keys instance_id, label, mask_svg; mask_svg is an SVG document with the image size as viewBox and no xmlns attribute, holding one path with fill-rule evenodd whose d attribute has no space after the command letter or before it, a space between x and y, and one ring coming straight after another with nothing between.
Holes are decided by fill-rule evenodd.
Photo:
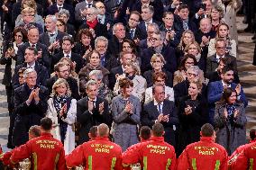
<instances>
[{"instance_id":1,"label":"woman in grey belted coat clapping between two front-row men in suits","mask_svg":"<svg viewBox=\"0 0 256 170\"><path fill-rule=\"evenodd\" d=\"M132 95L133 82L124 77L119 80L120 94L112 102L114 120L114 143L126 150L138 143L137 125L140 125L141 103L138 97Z\"/></svg>"}]
</instances>

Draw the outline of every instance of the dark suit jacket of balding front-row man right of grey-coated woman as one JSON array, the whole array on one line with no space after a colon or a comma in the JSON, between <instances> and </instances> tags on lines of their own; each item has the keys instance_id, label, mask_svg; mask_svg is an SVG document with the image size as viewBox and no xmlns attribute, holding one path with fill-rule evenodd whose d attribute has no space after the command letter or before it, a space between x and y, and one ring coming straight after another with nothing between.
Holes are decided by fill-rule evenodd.
<instances>
[{"instance_id":1,"label":"dark suit jacket of balding front-row man right of grey-coated woman","mask_svg":"<svg viewBox=\"0 0 256 170\"><path fill-rule=\"evenodd\" d=\"M178 111L175 104L172 101L164 100L162 113L163 115L169 115L169 122L161 121L165 130L164 140L175 147L176 140L173 125L178 125ZM152 128L159 115L160 113L158 112L157 105L154 105L154 101L146 103L143 106L142 111L142 126L149 126Z\"/></svg>"}]
</instances>

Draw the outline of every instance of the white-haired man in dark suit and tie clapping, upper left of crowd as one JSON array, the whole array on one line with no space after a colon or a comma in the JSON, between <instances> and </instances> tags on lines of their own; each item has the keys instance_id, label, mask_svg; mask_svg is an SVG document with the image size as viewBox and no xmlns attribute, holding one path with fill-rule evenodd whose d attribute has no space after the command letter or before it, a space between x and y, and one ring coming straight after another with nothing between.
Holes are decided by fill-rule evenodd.
<instances>
[{"instance_id":1,"label":"white-haired man in dark suit and tie clapping, upper left of crowd","mask_svg":"<svg viewBox=\"0 0 256 170\"><path fill-rule=\"evenodd\" d=\"M59 52L60 43L62 38L67 35L64 32L57 31L57 18L55 15L47 15L45 18L46 32L42 33L39 41L46 45L50 54Z\"/></svg>"}]
</instances>

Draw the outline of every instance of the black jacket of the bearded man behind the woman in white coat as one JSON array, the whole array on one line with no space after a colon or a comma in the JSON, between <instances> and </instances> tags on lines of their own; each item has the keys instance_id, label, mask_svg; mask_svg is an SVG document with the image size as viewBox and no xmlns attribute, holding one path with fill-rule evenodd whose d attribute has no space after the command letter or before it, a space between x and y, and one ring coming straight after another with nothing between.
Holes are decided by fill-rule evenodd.
<instances>
[{"instance_id":1,"label":"black jacket of the bearded man behind the woman in white coat","mask_svg":"<svg viewBox=\"0 0 256 170\"><path fill-rule=\"evenodd\" d=\"M46 80L46 87L48 88L50 94L52 92L52 85L58 80L57 76L53 76L50 79ZM75 78L72 77L68 77L68 79L66 79L68 84L69 84L69 88L71 91L71 96L74 99L79 100L80 99L80 95L78 94L78 81Z\"/></svg>"}]
</instances>

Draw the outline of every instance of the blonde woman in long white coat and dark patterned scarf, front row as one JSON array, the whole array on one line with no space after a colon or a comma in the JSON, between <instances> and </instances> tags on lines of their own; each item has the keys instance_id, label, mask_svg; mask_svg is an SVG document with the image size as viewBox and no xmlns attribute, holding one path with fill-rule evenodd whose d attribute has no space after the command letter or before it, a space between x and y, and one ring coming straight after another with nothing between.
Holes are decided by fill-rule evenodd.
<instances>
[{"instance_id":1,"label":"blonde woman in long white coat and dark patterned scarf, front row","mask_svg":"<svg viewBox=\"0 0 256 170\"><path fill-rule=\"evenodd\" d=\"M68 82L63 78L52 85L47 117L53 121L51 134L64 144L65 154L68 155L75 148L77 100L71 97Z\"/></svg>"}]
</instances>

